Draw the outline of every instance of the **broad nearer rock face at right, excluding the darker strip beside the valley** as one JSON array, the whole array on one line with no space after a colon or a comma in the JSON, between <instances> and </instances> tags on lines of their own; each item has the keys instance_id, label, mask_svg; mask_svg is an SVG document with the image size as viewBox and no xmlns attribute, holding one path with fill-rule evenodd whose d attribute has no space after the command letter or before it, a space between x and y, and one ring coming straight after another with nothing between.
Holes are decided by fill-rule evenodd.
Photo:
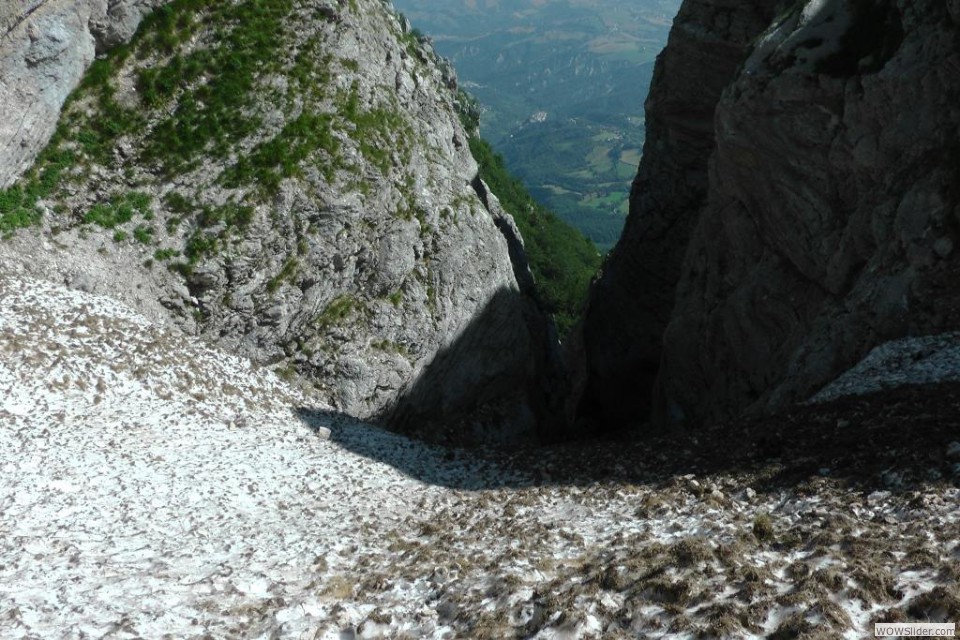
<instances>
[{"instance_id":1,"label":"broad nearer rock face at right, excluding the darker strip beside the valley","mask_svg":"<svg viewBox=\"0 0 960 640\"><path fill-rule=\"evenodd\" d=\"M717 107L662 419L782 408L956 328L958 64L940 2L810 3L765 32Z\"/></svg>"}]
</instances>

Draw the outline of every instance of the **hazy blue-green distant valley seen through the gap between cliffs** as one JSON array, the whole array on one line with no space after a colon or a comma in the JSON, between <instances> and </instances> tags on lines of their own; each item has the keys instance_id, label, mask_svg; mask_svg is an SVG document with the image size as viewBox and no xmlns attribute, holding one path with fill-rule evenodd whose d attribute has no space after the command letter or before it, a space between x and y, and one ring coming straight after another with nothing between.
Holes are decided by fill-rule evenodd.
<instances>
[{"instance_id":1,"label":"hazy blue-green distant valley seen through the gap between cliffs","mask_svg":"<svg viewBox=\"0 0 960 640\"><path fill-rule=\"evenodd\" d=\"M616 242L643 101L678 0L397 0L484 106L483 135L601 250Z\"/></svg>"}]
</instances>

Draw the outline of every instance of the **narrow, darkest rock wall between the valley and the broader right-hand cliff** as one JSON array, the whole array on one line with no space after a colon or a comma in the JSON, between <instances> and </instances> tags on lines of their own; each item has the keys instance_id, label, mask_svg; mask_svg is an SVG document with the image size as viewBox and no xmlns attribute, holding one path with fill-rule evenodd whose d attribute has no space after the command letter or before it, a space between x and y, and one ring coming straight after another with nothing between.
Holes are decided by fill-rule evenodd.
<instances>
[{"instance_id":1,"label":"narrow, darkest rock wall between the valley and the broader right-hand cliff","mask_svg":"<svg viewBox=\"0 0 960 640\"><path fill-rule=\"evenodd\" d=\"M630 216L583 323L577 413L591 428L622 428L649 413L681 263L706 200L713 113L771 12L760 0L688 0L657 59Z\"/></svg>"}]
</instances>

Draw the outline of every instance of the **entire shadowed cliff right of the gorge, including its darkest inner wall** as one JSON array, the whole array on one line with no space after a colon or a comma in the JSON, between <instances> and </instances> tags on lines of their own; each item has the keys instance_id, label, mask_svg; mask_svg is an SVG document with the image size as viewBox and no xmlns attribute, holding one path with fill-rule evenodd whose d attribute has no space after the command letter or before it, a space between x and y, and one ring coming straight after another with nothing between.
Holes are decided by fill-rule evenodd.
<instances>
[{"instance_id":1,"label":"entire shadowed cliff right of the gorge, including its darkest inner wall","mask_svg":"<svg viewBox=\"0 0 960 640\"><path fill-rule=\"evenodd\" d=\"M884 340L960 324L958 3L774 4L677 18L582 410L609 401L605 370L661 423L774 410Z\"/></svg>"}]
</instances>

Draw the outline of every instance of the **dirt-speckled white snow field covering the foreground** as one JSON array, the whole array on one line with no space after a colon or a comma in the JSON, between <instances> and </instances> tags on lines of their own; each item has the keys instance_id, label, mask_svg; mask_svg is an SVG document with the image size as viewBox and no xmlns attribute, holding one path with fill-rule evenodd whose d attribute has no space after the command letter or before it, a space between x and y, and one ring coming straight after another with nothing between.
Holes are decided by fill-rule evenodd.
<instances>
[{"instance_id":1,"label":"dirt-speckled white snow field covering the foreground","mask_svg":"<svg viewBox=\"0 0 960 640\"><path fill-rule=\"evenodd\" d=\"M960 622L955 485L551 484L563 471L544 456L416 443L107 298L0 276L0 637L856 638L880 616Z\"/></svg>"}]
</instances>

